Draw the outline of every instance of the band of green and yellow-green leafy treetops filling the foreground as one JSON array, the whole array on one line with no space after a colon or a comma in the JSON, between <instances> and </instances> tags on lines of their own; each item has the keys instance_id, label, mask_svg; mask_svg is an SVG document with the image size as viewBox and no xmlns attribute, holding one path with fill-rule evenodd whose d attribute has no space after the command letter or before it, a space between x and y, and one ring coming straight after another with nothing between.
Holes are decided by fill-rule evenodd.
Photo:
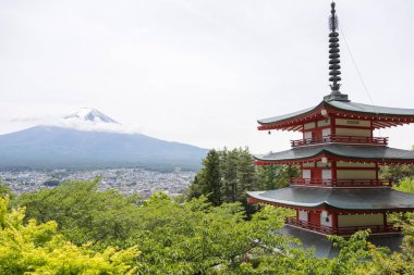
<instances>
[{"instance_id":1,"label":"band of green and yellow-green leafy treetops filling the foreground","mask_svg":"<svg viewBox=\"0 0 414 275\"><path fill-rule=\"evenodd\" d=\"M0 274L119 274L134 268L138 274L414 273L413 216L405 217L400 253L376 248L366 239L368 232L360 232L348 239L331 236L341 250L338 258L324 259L292 248L296 240L278 233L289 210L264 207L246 220L240 202L216 207L205 196L178 201L163 192L141 202L99 191L97 180L23 196L19 202L27 209L25 220L22 209L9 214L7 204L0 204ZM29 217L44 222L37 225Z\"/></svg>"}]
</instances>

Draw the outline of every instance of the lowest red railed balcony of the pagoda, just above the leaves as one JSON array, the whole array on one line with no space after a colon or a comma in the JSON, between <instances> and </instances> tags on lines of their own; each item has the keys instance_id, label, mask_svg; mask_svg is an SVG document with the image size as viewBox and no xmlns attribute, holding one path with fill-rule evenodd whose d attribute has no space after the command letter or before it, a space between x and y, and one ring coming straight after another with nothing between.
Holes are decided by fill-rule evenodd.
<instances>
[{"instance_id":1,"label":"lowest red railed balcony of the pagoda, just above the leaves","mask_svg":"<svg viewBox=\"0 0 414 275\"><path fill-rule=\"evenodd\" d=\"M285 224L296 227L303 228L307 230L312 230L315 233L324 234L324 235L340 235L340 236L349 236L358 230L370 229L370 234L401 234L401 227L394 226L392 224L387 225L365 225L365 226L345 226L345 227L330 227L319 224L313 224L309 222L297 221L295 216L287 217Z\"/></svg>"}]
</instances>

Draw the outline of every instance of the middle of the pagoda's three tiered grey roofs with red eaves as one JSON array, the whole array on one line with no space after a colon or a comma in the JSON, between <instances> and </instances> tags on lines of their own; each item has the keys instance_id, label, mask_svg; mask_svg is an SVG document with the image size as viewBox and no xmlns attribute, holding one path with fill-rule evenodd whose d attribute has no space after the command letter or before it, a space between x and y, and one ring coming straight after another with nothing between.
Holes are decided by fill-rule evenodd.
<instances>
[{"instance_id":1,"label":"middle of the pagoda's three tiered grey roofs with red eaves","mask_svg":"<svg viewBox=\"0 0 414 275\"><path fill-rule=\"evenodd\" d=\"M294 164L314 161L327 157L331 160L379 163L414 163L414 151L377 147L377 146L346 146L320 145L297 147L290 150L254 155L256 164Z\"/></svg>"}]
</instances>

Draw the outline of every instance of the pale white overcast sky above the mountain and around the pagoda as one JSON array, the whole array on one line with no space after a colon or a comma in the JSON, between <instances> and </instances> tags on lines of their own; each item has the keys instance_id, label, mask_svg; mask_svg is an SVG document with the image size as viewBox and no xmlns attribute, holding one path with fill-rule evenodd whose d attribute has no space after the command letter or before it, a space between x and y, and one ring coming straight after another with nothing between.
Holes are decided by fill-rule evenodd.
<instances>
[{"instance_id":1,"label":"pale white overcast sky above the mountain and around the pagoda","mask_svg":"<svg viewBox=\"0 0 414 275\"><path fill-rule=\"evenodd\" d=\"M337 3L374 103L414 108L414 1ZM288 149L299 134L256 120L330 92L329 12L329 0L0 0L0 134L93 107L161 139ZM342 91L372 103L340 45ZM376 134L414 145L414 126Z\"/></svg>"}]
</instances>

